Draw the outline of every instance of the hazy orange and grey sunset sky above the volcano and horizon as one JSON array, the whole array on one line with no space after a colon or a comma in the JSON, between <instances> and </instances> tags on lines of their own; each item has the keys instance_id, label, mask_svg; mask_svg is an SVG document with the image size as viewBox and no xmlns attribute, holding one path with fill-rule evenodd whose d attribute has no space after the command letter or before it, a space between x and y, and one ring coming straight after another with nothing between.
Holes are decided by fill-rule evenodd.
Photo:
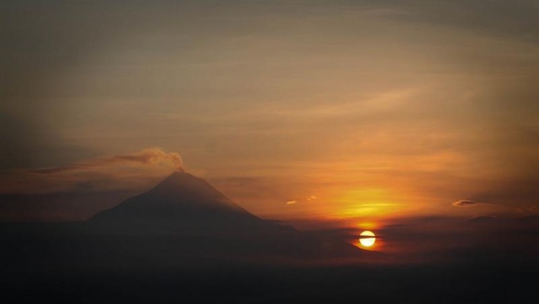
<instances>
[{"instance_id":1,"label":"hazy orange and grey sunset sky above the volcano and horizon","mask_svg":"<svg viewBox=\"0 0 539 304\"><path fill-rule=\"evenodd\" d=\"M0 220L84 220L180 167L265 218L538 215L537 1L0 15Z\"/></svg>"}]
</instances>

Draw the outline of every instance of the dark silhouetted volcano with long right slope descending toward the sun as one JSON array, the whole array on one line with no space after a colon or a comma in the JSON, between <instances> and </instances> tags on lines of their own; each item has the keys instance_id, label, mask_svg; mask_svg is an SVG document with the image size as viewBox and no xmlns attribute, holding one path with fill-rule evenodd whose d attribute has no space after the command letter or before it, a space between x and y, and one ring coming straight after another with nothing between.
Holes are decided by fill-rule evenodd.
<instances>
[{"instance_id":1,"label":"dark silhouetted volcano with long right slope descending toward the sun","mask_svg":"<svg viewBox=\"0 0 539 304\"><path fill-rule=\"evenodd\" d=\"M303 234L258 218L205 180L184 171L97 213L88 224L100 234L112 234L114 246L122 244L120 251L147 251L149 256L170 252L175 256L210 254L213 258L327 258L353 257L362 251L339 239Z\"/></svg>"}]
</instances>

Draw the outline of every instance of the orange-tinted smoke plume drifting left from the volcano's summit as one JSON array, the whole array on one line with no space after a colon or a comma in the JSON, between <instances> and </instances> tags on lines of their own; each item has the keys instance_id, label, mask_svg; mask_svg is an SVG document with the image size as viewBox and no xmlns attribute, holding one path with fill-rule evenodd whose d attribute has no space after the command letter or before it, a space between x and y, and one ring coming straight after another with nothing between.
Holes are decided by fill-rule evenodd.
<instances>
[{"instance_id":1,"label":"orange-tinted smoke plume drifting left from the volcano's summit","mask_svg":"<svg viewBox=\"0 0 539 304\"><path fill-rule=\"evenodd\" d=\"M183 171L180 154L151 147L66 167L5 171L0 193L142 191L172 171Z\"/></svg>"}]
</instances>

